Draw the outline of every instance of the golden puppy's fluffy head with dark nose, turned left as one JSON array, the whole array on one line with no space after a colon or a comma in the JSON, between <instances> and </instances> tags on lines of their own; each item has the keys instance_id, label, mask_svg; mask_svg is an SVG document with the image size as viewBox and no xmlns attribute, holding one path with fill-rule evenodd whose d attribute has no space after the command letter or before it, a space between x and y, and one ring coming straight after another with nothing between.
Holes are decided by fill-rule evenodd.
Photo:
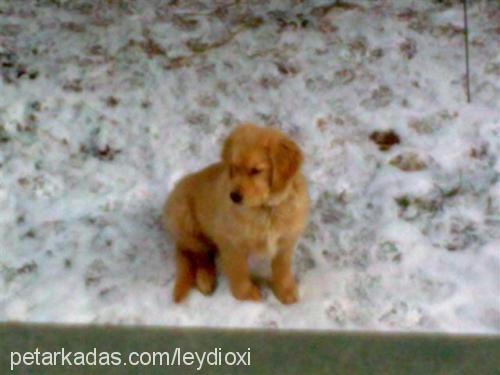
<instances>
[{"instance_id":1,"label":"golden puppy's fluffy head with dark nose, turned left","mask_svg":"<svg viewBox=\"0 0 500 375\"><path fill-rule=\"evenodd\" d=\"M228 199L257 207L273 205L286 193L303 156L297 144L279 130L243 124L226 139L222 160L231 185Z\"/></svg>"}]
</instances>

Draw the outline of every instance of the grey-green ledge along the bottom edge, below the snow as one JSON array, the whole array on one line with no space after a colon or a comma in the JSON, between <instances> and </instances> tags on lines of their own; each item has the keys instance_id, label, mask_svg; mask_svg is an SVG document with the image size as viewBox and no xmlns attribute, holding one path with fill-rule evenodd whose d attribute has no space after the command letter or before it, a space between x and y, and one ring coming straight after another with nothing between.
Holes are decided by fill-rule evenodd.
<instances>
[{"instance_id":1,"label":"grey-green ledge along the bottom edge, below the snow","mask_svg":"<svg viewBox=\"0 0 500 375\"><path fill-rule=\"evenodd\" d=\"M0 373L11 352L119 352L117 366L26 366L22 374L498 374L500 336L0 324ZM132 366L131 352L239 352L250 366ZM218 349L217 349L218 348ZM250 354L248 354L250 353ZM189 357L189 355L188 355ZM41 358L41 357L39 357ZM73 357L74 358L74 357ZM145 356L148 358L148 355ZM178 357L177 357L178 358ZM215 360L216 354L212 355ZM60 359L60 357L59 357ZM233 357L230 356L230 360ZM90 358L92 360L92 358Z\"/></svg>"}]
</instances>

